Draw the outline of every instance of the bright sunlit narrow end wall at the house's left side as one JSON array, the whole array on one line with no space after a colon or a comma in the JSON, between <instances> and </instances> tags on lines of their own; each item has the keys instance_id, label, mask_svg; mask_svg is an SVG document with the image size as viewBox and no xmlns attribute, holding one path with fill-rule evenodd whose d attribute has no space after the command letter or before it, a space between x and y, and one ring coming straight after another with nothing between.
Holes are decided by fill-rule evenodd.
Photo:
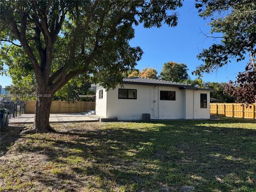
<instances>
[{"instance_id":1,"label":"bright sunlit narrow end wall at the house's left side","mask_svg":"<svg viewBox=\"0 0 256 192\"><path fill-rule=\"evenodd\" d=\"M95 113L99 116L107 116L107 92L103 89L103 98L99 99L99 90L102 90L102 86L96 87L96 104L95 104Z\"/></svg>"}]
</instances>

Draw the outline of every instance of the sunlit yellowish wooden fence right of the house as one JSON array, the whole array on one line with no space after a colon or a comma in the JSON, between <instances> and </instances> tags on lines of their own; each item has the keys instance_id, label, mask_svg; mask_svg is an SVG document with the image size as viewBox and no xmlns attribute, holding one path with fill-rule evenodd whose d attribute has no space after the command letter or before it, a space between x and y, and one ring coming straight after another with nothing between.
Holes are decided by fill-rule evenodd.
<instances>
[{"instance_id":1,"label":"sunlit yellowish wooden fence right of the house","mask_svg":"<svg viewBox=\"0 0 256 192\"><path fill-rule=\"evenodd\" d=\"M226 117L252 118L256 117L256 103L248 107L242 103L210 103L210 113Z\"/></svg>"}]
</instances>

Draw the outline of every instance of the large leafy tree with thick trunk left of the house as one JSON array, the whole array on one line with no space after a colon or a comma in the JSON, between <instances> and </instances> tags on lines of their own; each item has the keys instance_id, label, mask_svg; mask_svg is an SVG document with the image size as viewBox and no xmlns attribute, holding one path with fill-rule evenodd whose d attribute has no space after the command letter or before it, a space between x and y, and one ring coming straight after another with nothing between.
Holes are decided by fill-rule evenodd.
<instances>
[{"instance_id":1,"label":"large leafy tree with thick trunk left of the house","mask_svg":"<svg viewBox=\"0 0 256 192\"><path fill-rule=\"evenodd\" d=\"M26 133L49 132L51 96L71 78L93 74L104 87L141 58L131 47L134 25L177 25L173 1L1 1L1 65L32 71L37 85L35 123ZM23 60L23 61L21 61ZM18 73L19 75L19 73Z\"/></svg>"}]
</instances>

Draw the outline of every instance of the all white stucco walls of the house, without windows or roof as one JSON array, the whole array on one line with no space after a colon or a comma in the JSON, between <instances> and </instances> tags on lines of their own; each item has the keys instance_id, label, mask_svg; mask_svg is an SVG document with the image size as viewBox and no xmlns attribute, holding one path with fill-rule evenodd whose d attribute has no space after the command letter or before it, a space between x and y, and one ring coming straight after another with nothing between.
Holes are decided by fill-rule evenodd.
<instances>
[{"instance_id":1,"label":"all white stucco walls of the house, without windows or roof","mask_svg":"<svg viewBox=\"0 0 256 192\"><path fill-rule=\"evenodd\" d=\"M118 99L118 89L136 89L137 99ZM103 99L96 92L96 114L117 117L118 120L139 120L142 113L151 119L194 119L210 118L210 91L180 90L179 87L124 85L108 92L103 90ZM175 101L159 100L160 91L175 91ZM207 108L200 108L200 94L207 94Z\"/></svg>"}]
</instances>

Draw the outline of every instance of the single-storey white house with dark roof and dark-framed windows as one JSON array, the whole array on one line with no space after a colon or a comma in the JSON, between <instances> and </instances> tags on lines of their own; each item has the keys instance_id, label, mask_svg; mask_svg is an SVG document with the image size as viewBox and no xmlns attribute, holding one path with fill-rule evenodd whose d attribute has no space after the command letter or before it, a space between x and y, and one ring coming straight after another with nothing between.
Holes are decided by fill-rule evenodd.
<instances>
[{"instance_id":1,"label":"single-storey white house with dark roof and dark-framed windows","mask_svg":"<svg viewBox=\"0 0 256 192\"><path fill-rule=\"evenodd\" d=\"M209 119L210 92L195 86L159 79L124 78L123 85L106 91L96 90L96 115L118 120L139 120L142 114L151 119Z\"/></svg>"}]
</instances>

